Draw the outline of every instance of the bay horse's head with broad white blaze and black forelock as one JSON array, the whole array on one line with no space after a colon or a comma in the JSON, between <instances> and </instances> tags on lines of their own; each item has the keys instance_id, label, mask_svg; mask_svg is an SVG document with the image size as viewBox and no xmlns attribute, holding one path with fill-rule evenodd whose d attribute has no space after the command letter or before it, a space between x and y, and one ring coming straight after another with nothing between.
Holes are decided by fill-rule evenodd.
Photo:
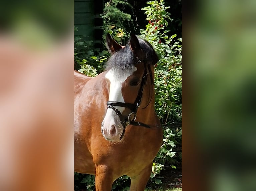
<instances>
[{"instance_id":1,"label":"bay horse's head with broad white blaze and black forelock","mask_svg":"<svg viewBox=\"0 0 256 191\"><path fill-rule=\"evenodd\" d=\"M105 75L110 87L101 132L107 140L120 141L128 125L149 127L143 123L148 117L146 110L145 115L138 116L141 122L136 119L138 110L147 108L154 100L154 65L158 57L149 42L135 35L131 35L126 46L121 46L107 34L106 44L111 53ZM149 108L154 110L154 106Z\"/></svg>"}]
</instances>

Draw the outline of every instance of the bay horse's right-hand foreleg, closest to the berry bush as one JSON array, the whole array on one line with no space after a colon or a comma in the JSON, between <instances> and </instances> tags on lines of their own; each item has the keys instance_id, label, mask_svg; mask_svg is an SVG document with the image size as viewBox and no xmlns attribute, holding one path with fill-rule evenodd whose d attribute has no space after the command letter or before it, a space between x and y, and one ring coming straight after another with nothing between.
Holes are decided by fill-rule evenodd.
<instances>
[{"instance_id":1,"label":"bay horse's right-hand foreleg, closest to the berry bush","mask_svg":"<svg viewBox=\"0 0 256 191\"><path fill-rule=\"evenodd\" d=\"M150 163L146 168L144 168L139 175L131 178L131 189L130 191L144 191L147 185L148 179L152 171L153 163Z\"/></svg>"}]
</instances>

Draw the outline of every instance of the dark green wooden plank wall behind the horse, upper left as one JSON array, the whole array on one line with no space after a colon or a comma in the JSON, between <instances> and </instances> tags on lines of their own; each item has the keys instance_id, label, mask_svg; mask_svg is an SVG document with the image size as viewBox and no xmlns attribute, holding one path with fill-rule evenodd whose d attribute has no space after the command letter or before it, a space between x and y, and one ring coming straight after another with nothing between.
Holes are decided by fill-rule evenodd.
<instances>
[{"instance_id":1,"label":"dark green wooden plank wall behind the horse, upper left","mask_svg":"<svg viewBox=\"0 0 256 191\"><path fill-rule=\"evenodd\" d=\"M102 41L103 0L75 0L75 36L87 36L86 40Z\"/></svg>"}]
</instances>

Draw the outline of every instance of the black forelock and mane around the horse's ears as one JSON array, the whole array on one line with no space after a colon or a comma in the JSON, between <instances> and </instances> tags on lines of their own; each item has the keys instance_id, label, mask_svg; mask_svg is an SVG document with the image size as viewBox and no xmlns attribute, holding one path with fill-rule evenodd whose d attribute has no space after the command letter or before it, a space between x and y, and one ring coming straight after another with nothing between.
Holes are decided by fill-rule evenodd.
<instances>
[{"instance_id":1,"label":"black forelock and mane around the horse's ears","mask_svg":"<svg viewBox=\"0 0 256 191\"><path fill-rule=\"evenodd\" d=\"M144 62L147 62L148 64L155 65L158 61L158 56L152 47L152 45L143 39L138 38L140 43L140 48L145 53L145 58L142 58ZM141 58L140 58L141 59ZM117 69L117 70L129 70L132 69L134 66L134 62L137 61L137 58L135 58L132 50L130 49L130 40L126 44L125 48L122 48L115 52L107 61L106 64L106 70L109 69Z\"/></svg>"}]
</instances>

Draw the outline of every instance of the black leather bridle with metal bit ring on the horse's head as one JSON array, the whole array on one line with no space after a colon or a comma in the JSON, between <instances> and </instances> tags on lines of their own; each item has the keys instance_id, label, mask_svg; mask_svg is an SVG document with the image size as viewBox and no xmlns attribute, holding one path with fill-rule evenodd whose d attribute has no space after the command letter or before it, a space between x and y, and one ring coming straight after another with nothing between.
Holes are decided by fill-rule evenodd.
<instances>
[{"instance_id":1,"label":"black leather bridle with metal bit ring on the horse's head","mask_svg":"<svg viewBox=\"0 0 256 191\"><path fill-rule=\"evenodd\" d=\"M136 63L140 63L140 62L144 62L144 73L143 73L143 77L142 77L142 80L141 80L141 84L140 84L140 89L139 89L139 92L138 92L138 95L137 95L137 98L135 99L134 103L123 103L123 102L118 102L118 101L107 101L107 109L108 108L111 108L113 109L116 114L119 116L120 118L120 122L121 124L123 125L124 127L124 130L123 130L123 133L120 137L120 140L123 138L124 136L124 132L125 132L125 128L127 125L135 125L135 126L143 126L143 127L146 127L146 128L151 128L153 126L160 126L160 125L147 125L145 123L142 123L142 122L136 122L136 118L137 118L137 111L138 111L138 108L140 107L140 104L141 104L141 99L142 99L142 96L143 96L143 90L144 90L144 87L146 85L146 82L147 82L147 78L148 78L148 72L149 71L149 75L150 75L150 79L151 79L151 83L153 84L154 81L153 81L153 76L152 76L152 71L150 69L150 65L145 62L144 60L140 60L138 57L136 57L136 59L138 61L134 62L134 64ZM151 95L151 98L152 98L152 95ZM151 102L151 98L150 98L150 101L149 103L147 104L146 107L148 107L148 105L150 104ZM128 108L131 110L131 113L128 115L128 117L125 117L122 115L122 113L117 109L115 108L114 106L117 106L117 107L125 107L125 108ZM146 107L144 107L143 109L145 109ZM131 116L133 115L133 119L131 119Z\"/></svg>"}]
</instances>

